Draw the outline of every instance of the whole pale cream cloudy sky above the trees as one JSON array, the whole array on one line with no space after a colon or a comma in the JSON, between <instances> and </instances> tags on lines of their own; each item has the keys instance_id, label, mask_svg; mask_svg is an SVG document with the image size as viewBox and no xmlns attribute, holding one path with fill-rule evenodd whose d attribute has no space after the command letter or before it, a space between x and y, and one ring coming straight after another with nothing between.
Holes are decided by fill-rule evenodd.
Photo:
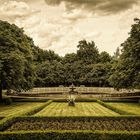
<instances>
[{"instance_id":1,"label":"whole pale cream cloudy sky above the trees","mask_svg":"<svg viewBox=\"0 0 140 140\"><path fill-rule=\"evenodd\" d=\"M113 54L140 17L139 0L0 0L0 19L23 27L36 45L59 55L78 41Z\"/></svg>"}]
</instances>

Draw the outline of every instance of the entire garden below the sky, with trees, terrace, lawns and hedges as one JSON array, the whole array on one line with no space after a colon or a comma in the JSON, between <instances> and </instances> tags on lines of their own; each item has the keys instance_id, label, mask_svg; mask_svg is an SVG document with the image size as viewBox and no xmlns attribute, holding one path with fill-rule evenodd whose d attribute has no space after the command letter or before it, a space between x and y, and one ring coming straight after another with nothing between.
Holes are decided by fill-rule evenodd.
<instances>
[{"instance_id":1,"label":"entire garden below the sky, with trees, terrace, lawns and hedges","mask_svg":"<svg viewBox=\"0 0 140 140\"><path fill-rule=\"evenodd\" d=\"M0 140L139 140L139 36L135 19L121 54L60 57L0 21Z\"/></svg>"}]
</instances>

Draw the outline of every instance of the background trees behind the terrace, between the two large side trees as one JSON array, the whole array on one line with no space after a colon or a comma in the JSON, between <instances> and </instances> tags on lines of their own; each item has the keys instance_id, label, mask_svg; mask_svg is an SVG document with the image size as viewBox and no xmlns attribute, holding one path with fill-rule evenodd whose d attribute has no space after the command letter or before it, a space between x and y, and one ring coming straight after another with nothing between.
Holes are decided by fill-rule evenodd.
<instances>
[{"instance_id":1,"label":"background trees behind the terrace, between the two large side trees","mask_svg":"<svg viewBox=\"0 0 140 140\"><path fill-rule=\"evenodd\" d=\"M77 53L59 59L42 61L37 65L36 86L85 85L109 86L112 57L99 53L94 42L79 41Z\"/></svg>"}]
</instances>

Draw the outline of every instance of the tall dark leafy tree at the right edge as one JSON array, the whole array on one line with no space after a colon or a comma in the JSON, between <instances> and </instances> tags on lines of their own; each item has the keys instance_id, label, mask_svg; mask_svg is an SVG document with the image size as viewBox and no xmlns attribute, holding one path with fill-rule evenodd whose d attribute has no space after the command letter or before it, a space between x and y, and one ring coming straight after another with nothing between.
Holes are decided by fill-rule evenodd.
<instances>
[{"instance_id":1,"label":"tall dark leafy tree at the right edge","mask_svg":"<svg viewBox=\"0 0 140 140\"><path fill-rule=\"evenodd\" d=\"M109 81L119 88L140 88L140 20L135 19L130 36L121 45L122 54L114 64Z\"/></svg>"}]
</instances>

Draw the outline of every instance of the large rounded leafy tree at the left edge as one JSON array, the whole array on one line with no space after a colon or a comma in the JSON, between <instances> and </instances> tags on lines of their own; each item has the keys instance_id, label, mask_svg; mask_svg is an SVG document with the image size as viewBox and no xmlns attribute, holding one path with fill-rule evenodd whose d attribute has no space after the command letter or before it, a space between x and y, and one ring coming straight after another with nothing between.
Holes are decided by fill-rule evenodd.
<instances>
[{"instance_id":1,"label":"large rounded leafy tree at the left edge","mask_svg":"<svg viewBox=\"0 0 140 140\"><path fill-rule=\"evenodd\" d=\"M0 100L3 88L21 91L33 87L33 47L23 29L0 21Z\"/></svg>"}]
</instances>

